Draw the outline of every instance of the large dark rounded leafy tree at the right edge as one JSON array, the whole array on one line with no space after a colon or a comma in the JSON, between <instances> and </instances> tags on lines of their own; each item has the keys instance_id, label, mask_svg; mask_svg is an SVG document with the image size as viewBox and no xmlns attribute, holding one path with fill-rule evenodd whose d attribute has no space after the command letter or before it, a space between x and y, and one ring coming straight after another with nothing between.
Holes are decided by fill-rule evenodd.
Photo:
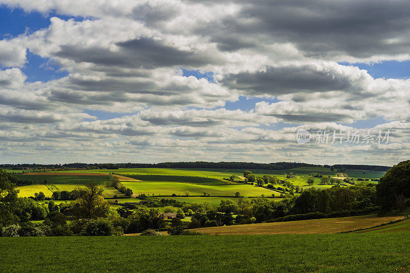
<instances>
[{"instance_id":1,"label":"large dark rounded leafy tree at the right edge","mask_svg":"<svg viewBox=\"0 0 410 273\"><path fill-rule=\"evenodd\" d=\"M410 197L410 160L402 161L388 170L376 186L377 199L384 211Z\"/></svg>"}]
</instances>

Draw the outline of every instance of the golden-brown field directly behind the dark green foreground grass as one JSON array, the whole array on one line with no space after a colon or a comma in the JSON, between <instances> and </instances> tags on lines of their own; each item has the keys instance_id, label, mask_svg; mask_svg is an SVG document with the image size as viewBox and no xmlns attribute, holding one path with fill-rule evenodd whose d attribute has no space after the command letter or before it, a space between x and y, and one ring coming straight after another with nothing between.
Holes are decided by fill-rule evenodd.
<instances>
[{"instance_id":1,"label":"golden-brown field directly behind the dark green foreground grass","mask_svg":"<svg viewBox=\"0 0 410 273\"><path fill-rule=\"evenodd\" d=\"M195 228L197 232L211 235L255 234L331 234L369 228L403 219L402 216L377 217L377 215L300 220L276 223L246 224Z\"/></svg>"}]
</instances>

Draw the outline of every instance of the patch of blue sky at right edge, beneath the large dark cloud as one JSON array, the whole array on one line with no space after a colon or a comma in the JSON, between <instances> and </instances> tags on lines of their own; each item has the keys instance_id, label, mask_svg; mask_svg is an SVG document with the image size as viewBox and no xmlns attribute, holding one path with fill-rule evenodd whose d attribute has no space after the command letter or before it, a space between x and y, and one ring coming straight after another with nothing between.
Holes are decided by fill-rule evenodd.
<instances>
[{"instance_id":1,"label":"patch of blue sky at right edge, beneath the large dark cloud","mask_svg":"<svg viewBox=\"0 0 410 273\"><path fill-rule=\"evenodd\" d=\"M343 66L355 66L360 69L367 70L373 78L393 78L393 79L407 79L410 77L410 61L388 60L376 62L374 64L348 64L347 62L339 62Z\"/></svg>"}]
</instances>

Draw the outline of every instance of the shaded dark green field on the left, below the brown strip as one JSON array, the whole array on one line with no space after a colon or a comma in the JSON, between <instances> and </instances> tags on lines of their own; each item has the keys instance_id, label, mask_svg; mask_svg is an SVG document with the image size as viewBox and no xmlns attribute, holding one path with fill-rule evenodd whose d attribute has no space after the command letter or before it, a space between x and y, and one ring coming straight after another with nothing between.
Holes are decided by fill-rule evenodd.
<instances>
[{"instance_id":1,"label":"shaded dark green field on the left, below the brown strip","mask_svg":"<svg viewBox=\"0 0 410 273\"><path fill-rule=\"evenodd\" d=\"M34 183L43 183L45 179L50 184L76 184L85 185L95 182L99 185L110 183L108 176L74 176L74 175L15 175L22 180L33 180Z\"/></svg>"}]
</instances>

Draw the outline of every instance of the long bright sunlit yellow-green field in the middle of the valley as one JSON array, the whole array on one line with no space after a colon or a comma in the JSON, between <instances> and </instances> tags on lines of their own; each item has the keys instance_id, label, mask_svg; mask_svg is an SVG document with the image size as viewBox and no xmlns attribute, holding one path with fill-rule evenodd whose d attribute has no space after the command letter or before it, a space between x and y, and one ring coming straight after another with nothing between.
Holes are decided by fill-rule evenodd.
<instances>
[{"instance_id":1,"label":"long bright sunlit yellow-green field in the middle of the valley","mask_svg":"<svg viewBox=\"0 0 410 273\"><path fill-rule=\"evenodd\" d=\"M185 195L186 191L190 192L190 195L203 195L203 192L210 193L216 196L235 196L236 192L239 192L241 196L271 196L272 193L279 195L278 192L273 192L261 187L255 187L246 184L233 184L233 185L197 185L189 183L176 183L176 182L121 182L124 186L131 188L135 194L146 195Z\"/></svg>"}]
</instances>

